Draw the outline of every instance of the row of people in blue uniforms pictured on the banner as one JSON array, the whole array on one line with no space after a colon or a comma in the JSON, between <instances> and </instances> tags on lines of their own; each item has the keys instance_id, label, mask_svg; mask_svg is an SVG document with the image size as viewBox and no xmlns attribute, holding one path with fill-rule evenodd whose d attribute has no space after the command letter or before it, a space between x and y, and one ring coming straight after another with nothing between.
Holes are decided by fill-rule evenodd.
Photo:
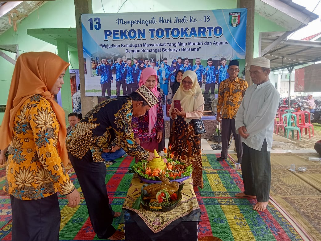
<instances>
[{"instance_id":1,"label":"row of people in blue uniforms pictured on the banner","mask_svg":"<svg viewBox=\"0 0 321 241\"><path fill-rule=\"evenodd\" d=\"M218 84L229 78L227 72L228 65L226 58L219 60L219 65L215 68L212 58L207 59L207 65L204 67L200 58L195 59L195 65L189 58L178 57L173 59L171 65L167 64L167 58L154 61L148 58L126 58L125 56L117 56L117 60L113 64L108 64L106 59L101 59L101 64L96 67L96 74L100 75L101 95L111 96L111 83L113 83L112 71L116 72L116 96L129 95L138 88L138 82L144 68L152 67L156 70L159 81L158 84L164 95L168 95L169 88L175 83L175 76L178 70L186 72L192 70L197 75L197 82L202 88L205 84L204 95L214 94L215 84ZM123 93L121 94L121 88ZM211 92L210 92L211 91Z\"/></svg>"}]
</instances>

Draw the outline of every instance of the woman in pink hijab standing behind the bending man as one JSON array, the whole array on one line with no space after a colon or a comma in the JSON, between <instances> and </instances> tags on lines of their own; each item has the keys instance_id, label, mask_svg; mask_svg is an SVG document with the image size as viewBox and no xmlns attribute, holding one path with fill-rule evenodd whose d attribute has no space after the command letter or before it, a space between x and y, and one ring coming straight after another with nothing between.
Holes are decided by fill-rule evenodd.
<instances>
[{"instance_id":1,"label":"woman in pink hijab standing behind the bending man","mask_svg":"<svg viewBox=\"0 0 321 241\"><path fill-rule=\"evenodd\" d=\"M144 149L149 151L158 150L158 144L163 138L164 121L161 96L160 92L157 91L156 70L151 67L143 69L138 85L139 87L145 85L149 88L157 96L158 103L141 117L133 117L134 138Z\"/></svg>"}]
</instances>

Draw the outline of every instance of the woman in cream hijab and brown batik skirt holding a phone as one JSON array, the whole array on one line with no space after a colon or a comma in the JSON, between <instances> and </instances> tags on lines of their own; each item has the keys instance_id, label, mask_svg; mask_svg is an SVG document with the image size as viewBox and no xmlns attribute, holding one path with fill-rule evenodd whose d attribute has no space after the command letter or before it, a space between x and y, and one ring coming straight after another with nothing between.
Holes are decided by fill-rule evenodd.
<instances>
[{"instance_id":1,"label":"woman in cream hijab and brown batik skirt holding a phone","mask_svg":"<svg viewBox=\"0 0 321 241\"><path fill-rule=\"evenodd\" d=\"M174 101L180 100L182 110L174 108ZM193 165L193 185L203 188L201 135L195 134L192 119L202 118L204 112L204 97L197 83L194 71L187 70L173 97L169 109L169 117L174 120L169 145L174 152L174 160Z\"/></svg>"}]
</instances>

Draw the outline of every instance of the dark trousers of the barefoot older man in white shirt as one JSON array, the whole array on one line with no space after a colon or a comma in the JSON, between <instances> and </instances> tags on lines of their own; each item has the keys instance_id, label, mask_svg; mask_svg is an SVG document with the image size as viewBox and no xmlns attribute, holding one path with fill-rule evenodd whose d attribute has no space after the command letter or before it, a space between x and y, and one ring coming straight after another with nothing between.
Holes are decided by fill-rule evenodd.
<instances>
[{"instance_id":1,"label":"dark trousers of the barefoot older man in white shirt","mask_svg":"<svg viewBox=\"0 0 321 241\"><path fill-rule=\"evenodd\" d=\"M256 196L258 202L267 202L271 186L271 159L264 140L261 151L243 143L242 177L244 193Z\"/></svg>"}]
</instances>

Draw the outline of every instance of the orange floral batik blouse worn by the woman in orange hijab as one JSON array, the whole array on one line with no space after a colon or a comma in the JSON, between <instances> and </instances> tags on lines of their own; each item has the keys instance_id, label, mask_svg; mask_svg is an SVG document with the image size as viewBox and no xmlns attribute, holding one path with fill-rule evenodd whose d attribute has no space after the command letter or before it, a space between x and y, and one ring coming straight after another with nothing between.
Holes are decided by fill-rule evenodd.
<instances>
[{"instance_id":1,"label":"orange floral batik blouse worn by the woman in orange hijab","mask_svg":"<svg viewBox=\"0 0 321 241\"><path fill-rule=\"evenodd\" d=\"M74 190L58 154L58 132L50 103L38 94L26 99L14 117L4 191L35 200Z\"/></svg>"}]
</instances>

